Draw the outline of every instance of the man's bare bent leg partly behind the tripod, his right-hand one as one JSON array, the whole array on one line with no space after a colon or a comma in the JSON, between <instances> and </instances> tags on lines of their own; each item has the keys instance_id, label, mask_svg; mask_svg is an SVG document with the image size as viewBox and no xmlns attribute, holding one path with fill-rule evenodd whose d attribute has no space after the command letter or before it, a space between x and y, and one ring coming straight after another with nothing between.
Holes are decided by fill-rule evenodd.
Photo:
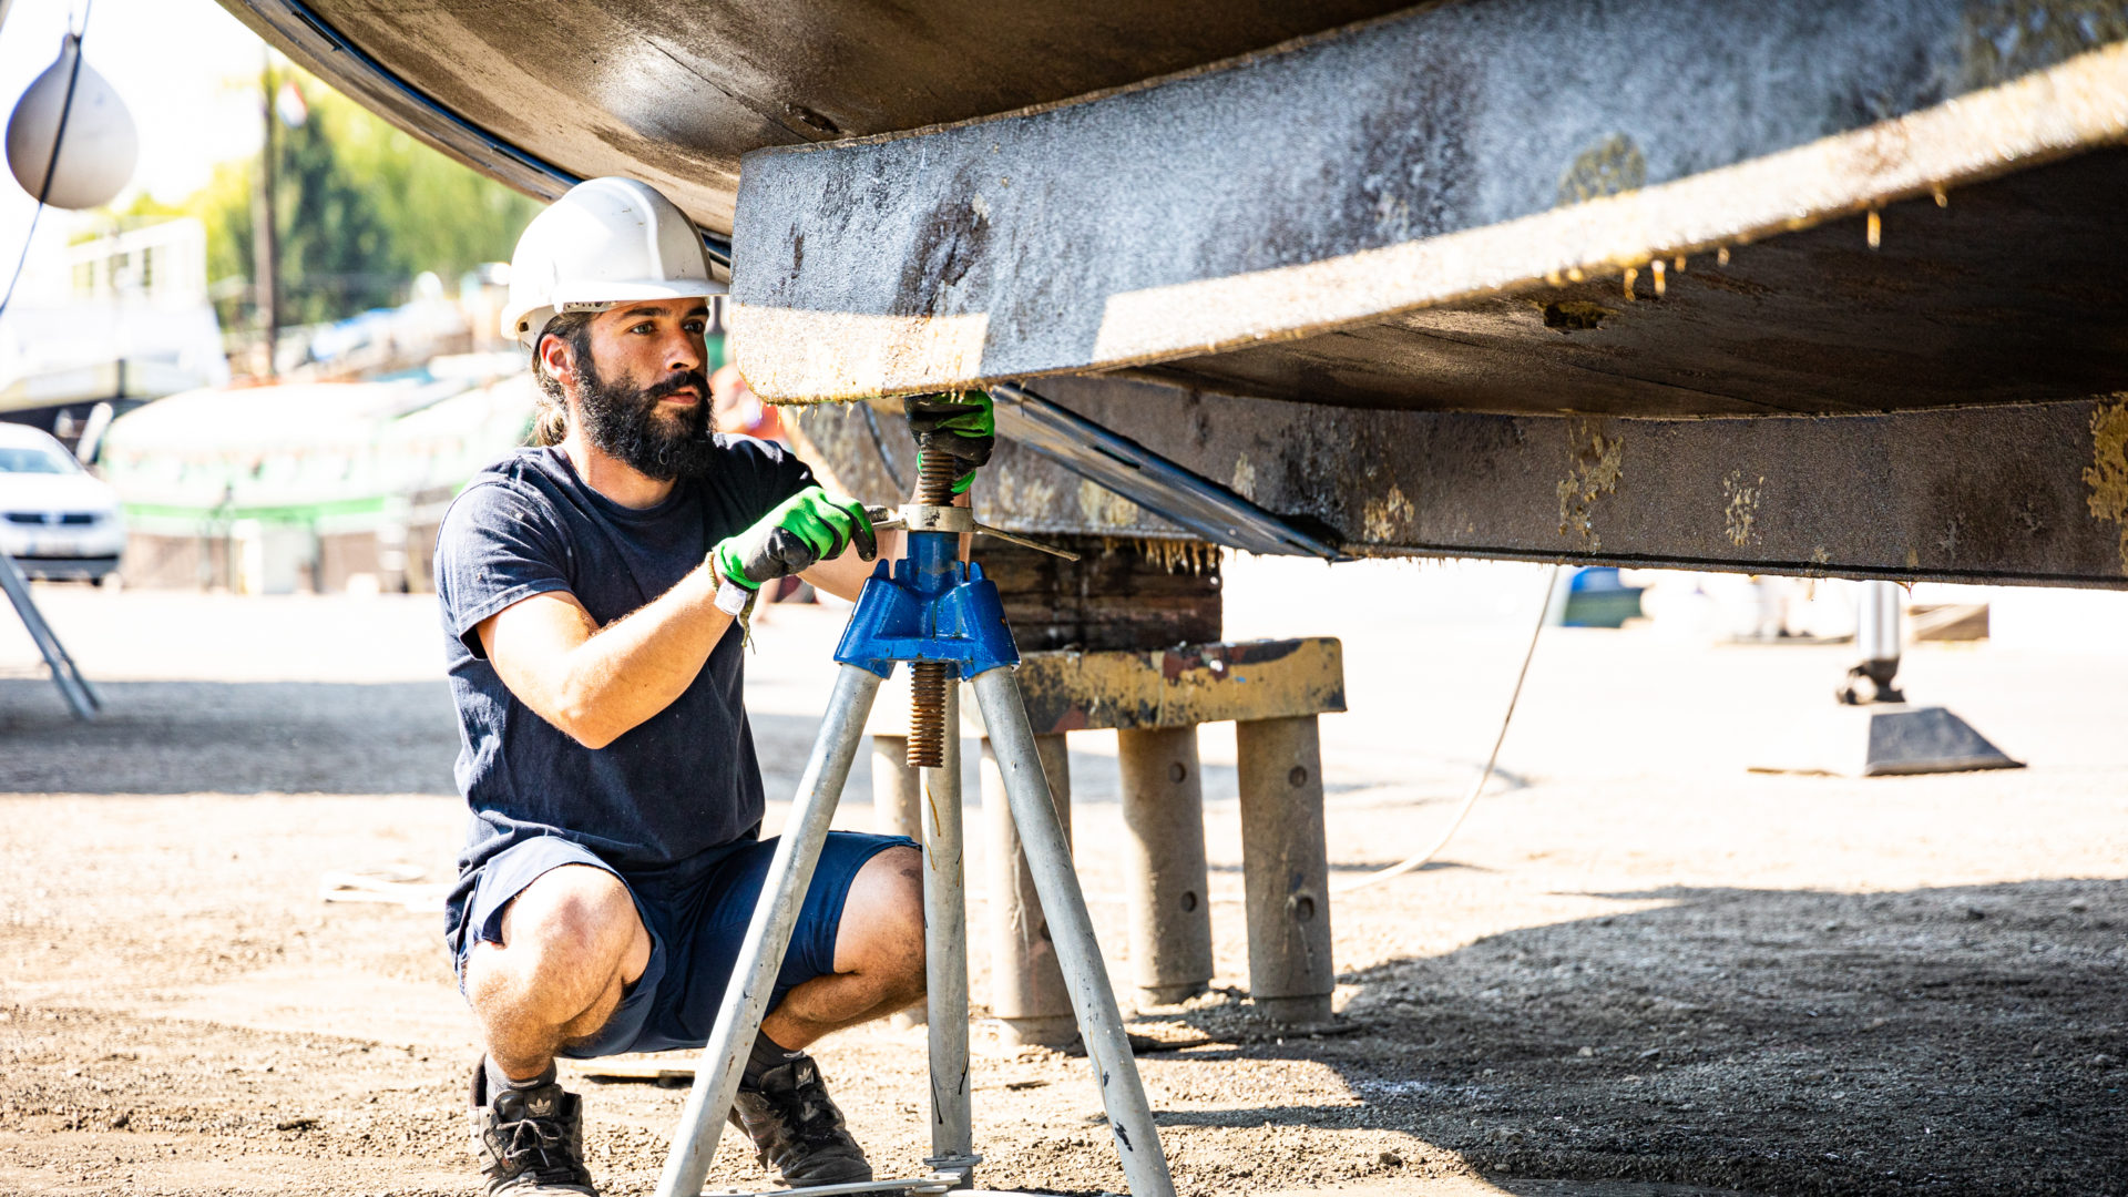
<instances>
[{"instance_id":1,"label":"man's bare bent leg partly behind the tripod, his right-hand one","mask_svg":"<svg viewBox=\"0 0 2128 1197\"><path fill-rule=\"evenodd\" d=\"M834 971L762 1018L762 1035L796 1052L843 1027L885 1018L924 997L924 854L887 848L858 869L834 933Z\"/></svg>"}]
</instances>

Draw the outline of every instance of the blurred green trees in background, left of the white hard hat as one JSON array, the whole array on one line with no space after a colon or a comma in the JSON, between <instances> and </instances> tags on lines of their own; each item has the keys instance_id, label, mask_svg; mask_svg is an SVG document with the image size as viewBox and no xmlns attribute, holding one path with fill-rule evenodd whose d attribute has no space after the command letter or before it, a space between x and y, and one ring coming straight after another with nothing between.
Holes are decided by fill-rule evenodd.
<instances>
[{"instance_id":1,"label":"blurred green trees in background, left of the white hard hat","mask_svg":"<svg viewBox=\"0 0 2128 1197\"><path fill-rule=\"evenodd\" d=\"M509 260L538 200L451 162L317 79L281 70L311 109L300 128L275 128L283 324L404 300L421 270L455 288L464 270ZM223 162L185 202L206 224L223 328L257 326L249 285L257 168L255 158Z\"/></svg>"}]
</instances>

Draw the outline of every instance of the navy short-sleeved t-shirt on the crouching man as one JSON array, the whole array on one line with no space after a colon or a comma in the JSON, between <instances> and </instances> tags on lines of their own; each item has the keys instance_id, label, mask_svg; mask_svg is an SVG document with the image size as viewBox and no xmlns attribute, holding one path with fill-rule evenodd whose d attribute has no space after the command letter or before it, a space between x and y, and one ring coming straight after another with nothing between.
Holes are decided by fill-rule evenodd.
<instances>
[{"instance_id":1,"label":"navy short-sleeved t-shirt on the crouching man","mask_svg":"<svg viewBox=\"0 0 2128 1197\"><path fill-rule=\"evenodd\" d=\"M577 477L562 449L517 449L477 473L436 532L458 790L472 807L460 892L498 852L538 835L583 843L621 871L658 869L751 837L762 771L741 705L741 637L726 635L666 709L592 750L511 694L481 647L481 620L568 590L600 626L670 590L709 547L813 486L787 449L717 434L715 464L672 496L630 509Z\"/></svg>"}]
</instances>

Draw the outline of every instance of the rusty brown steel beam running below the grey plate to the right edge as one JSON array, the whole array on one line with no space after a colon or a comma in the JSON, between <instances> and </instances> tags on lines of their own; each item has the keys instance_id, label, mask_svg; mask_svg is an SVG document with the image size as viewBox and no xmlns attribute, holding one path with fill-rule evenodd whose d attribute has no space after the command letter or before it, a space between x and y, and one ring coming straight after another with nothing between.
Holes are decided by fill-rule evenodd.
<instances>
[{"instance_id":1,"label":"rusty brown steel beam running below the grey plate to the right edge","mask_svg":"<svg viewBox=\"0 0 2128 1197\"><path fill-rule=\"evenodd\" d=\"M2128 588L2128 392L1626 420L1332 409L1113 377L1045 388L1358 556ZM977 486L1068 486L1053 469L1011 458ZM1032 530L1079 513L992 518Z\"/></svg>"}]
</instances>

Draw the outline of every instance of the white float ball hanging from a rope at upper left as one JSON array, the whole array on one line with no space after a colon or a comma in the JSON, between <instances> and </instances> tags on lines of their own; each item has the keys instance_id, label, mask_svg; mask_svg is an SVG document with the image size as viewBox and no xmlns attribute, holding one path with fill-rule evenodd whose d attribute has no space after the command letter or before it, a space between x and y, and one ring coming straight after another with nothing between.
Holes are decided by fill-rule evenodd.
<instances>
[{"instance_id":1,"label":"white float ball hanging from a rope at upper left","mask_svg":"<svg viewBox=\"0 0 2128 1197\"><path fill-rule=\"evenodd\" d=\"M30 83L6 121L6 164L30 196L45 192L45 170L51 162L51 138L60 132L60 109L66 104L66 81L74 72L81 43L66 36L60 60ZM66 143L53 168L45 202L55 209L94 209L109 204L132 179L140 160L140 134L134 130L126 100L87 62L74 79L72 115L66 119Z\"/></svg>"}]
</instances>

